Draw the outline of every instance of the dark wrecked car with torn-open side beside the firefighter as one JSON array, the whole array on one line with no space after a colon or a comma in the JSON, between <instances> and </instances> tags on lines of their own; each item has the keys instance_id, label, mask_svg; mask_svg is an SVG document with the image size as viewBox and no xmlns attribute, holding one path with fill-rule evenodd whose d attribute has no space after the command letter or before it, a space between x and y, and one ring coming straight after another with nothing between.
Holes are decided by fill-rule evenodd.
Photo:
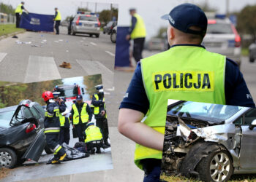
<instances>
[{"instance_id":1,"label":"dark wrecked car with torn-open side beside the firefighter","mask_svg":"<svg viewBox=\"0 0 256 182\"><path fill-rule=\"evenodd\" d=\"M26 159L38 161L45 148L42 114L42 106L31 100L0 109L1 167L13 168Z\"/></svg>"}]
</instances>

